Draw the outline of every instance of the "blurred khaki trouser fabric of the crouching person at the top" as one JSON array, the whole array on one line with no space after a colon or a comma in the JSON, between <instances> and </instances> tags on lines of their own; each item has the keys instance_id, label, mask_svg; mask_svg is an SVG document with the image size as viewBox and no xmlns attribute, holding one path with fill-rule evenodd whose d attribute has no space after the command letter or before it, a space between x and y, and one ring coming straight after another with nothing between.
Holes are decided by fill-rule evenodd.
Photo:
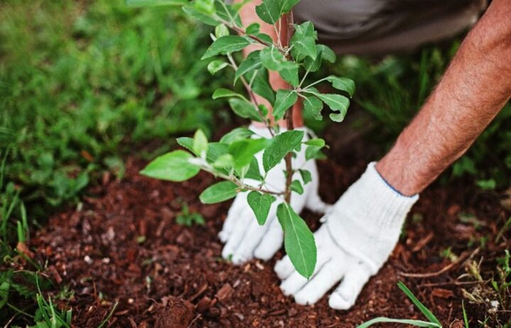
<instances>
[{"instance_id":1,"label":"blurred khaki trouser fabric of the crouching person at the top","mask_svg":"<svg viewBox=\"0 0 511 328\"><path fill-rule=\"evenodd\" d=\"M487 0L301 0L297 23L312 21L338 53L382 55L451 38L472 26Z\"/></svg>"}]
</instances>

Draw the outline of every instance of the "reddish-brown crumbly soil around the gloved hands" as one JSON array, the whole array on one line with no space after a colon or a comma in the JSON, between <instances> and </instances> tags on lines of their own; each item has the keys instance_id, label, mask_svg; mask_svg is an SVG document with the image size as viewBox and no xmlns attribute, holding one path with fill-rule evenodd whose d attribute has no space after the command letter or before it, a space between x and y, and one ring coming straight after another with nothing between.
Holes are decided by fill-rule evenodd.
<instances>
[{"instance_id":1,"label":"reddish-brown crumbly soil around the gloved hands","mask_svg":"<svg viewBox=\"0 0 511 328\"><path fill-rule=\"evenodd\" d=\"M356 152L350 157L337 141L338 132L330 130L326 138L335 156L319 162L320 186L324 199L334 202L358 178L370 155L364 158ZM349 148L353 147L367 145ZM388 263L351 310L334 311L326 298L302 307L282 295L273 273L282 251L272 261L243 266L221 259L216 233L230 203L202 205L197 199L214 181L211 176L168 183L139 176L143 165L128 159L126 179L109 181L106 176L104 185L90 189L78 210L55 215L31 241L41 262L48 261L54 280L75 290L70 302L75 327L97 327L116 302L108 327L356 327L379 316L425 319L397 288L397 281L409 286L444 327L463 327L462 289L474 297L485 293L480 302L465 300L476 327L476 320L488 315L488 301L497 299L487 284L474 283L473 275L466 274L471 261L451 265L441 256L451 247L452 254L466 259L481 238L488 237L485 247L472 256L474 263L483 259L480 272L487 279L495 258L510 245L509 234L495 243L510 214L500 205L502 197L477 191L471 182L437 184L424 191ZM206 224L177 225L183 203L201 213ZM303 216L312 229L318 227L318 215L306 211ZM442 269L444 273L429 278L402 275ZM505 313L498 312L501 322Z\"/></svg>"}]
</instances>

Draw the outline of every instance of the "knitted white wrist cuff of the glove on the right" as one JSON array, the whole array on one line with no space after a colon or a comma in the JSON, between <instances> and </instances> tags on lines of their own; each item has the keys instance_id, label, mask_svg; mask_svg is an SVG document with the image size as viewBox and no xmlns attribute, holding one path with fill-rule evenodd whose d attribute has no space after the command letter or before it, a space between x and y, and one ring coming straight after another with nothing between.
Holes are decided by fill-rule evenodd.
<instances>
[{"instance_id":1,"label":"knitted white wrist cuff of the glove on the right","mask_svg":"<svg viewBox=\"0 0 511 328\"><path fill-rule=\"evenodd\" d=\"M407 213L419 195L403 196L392 188L371 162L358 179L334 205L326 222L332 239L339 247L363 259L374 273L395 247ZM380 249L373 254L375 247ZM390 249L389 249L390 248ZM382 258L383 262L382 262Z\"/></svg>"}]
</instances>

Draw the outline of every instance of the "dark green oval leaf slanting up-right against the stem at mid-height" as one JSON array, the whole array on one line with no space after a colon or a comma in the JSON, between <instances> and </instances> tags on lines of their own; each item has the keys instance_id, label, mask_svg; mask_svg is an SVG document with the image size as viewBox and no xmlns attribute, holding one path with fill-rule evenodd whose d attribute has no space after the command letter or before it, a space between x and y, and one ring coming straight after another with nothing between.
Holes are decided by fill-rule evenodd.
<instances>
[{"instance_id":1,"label":"dark green oval leaf slanting up-right against the stem at mid-height","mask_svg":"<svg viewBox=\"0 0 511 328\"><path fill-rule=\"evenodd\" d=\"M290 130L275 135L271 139L271 144L263 153L263 168L266 172L270 171L275 165L285 157L288 152L295 149L302 142L304 132L300 130Z\"/></svg>"}]
</instances>

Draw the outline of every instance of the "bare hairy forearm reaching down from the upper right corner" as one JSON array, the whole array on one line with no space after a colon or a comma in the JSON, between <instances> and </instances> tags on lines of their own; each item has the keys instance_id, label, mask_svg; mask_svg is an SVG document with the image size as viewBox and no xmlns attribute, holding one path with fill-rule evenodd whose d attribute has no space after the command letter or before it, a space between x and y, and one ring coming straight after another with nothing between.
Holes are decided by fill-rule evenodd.
<instances>
[{"instance_id":1,"label":"bare hairy forearm reaching down from the upper right corner","mask_svg":"<svg viewBox=\"0 0 511 328\"><path fill-rule=\"evenodd\" d=\"M494 0L376 169L401 193L419 193L466 152L510 95L511 1Z\"/></svg>"}]
</instances>

